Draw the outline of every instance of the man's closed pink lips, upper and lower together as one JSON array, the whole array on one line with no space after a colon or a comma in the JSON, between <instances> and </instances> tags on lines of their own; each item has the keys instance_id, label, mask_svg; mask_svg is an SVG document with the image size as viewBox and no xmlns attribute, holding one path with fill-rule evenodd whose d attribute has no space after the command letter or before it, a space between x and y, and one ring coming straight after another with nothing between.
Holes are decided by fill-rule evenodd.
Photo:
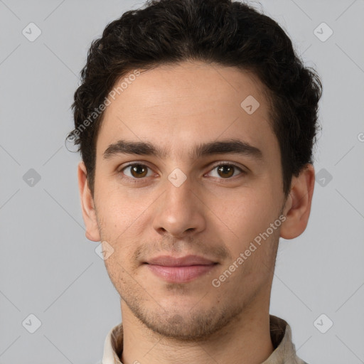
<instances>
[{"instance_id":1,"label":"man's closed pink lips, upper and lower together","mask_svg":"<svg viewBox=\"0 0 364 364\"><path fill-rule=\"evenodd\" d=\"M187 283L207 274L217 264L217 262L197 255L187 255L181 258L164 255L150 259L149 262L146 262L146 267L166 282Z\"/></svg>"}]
</instances>

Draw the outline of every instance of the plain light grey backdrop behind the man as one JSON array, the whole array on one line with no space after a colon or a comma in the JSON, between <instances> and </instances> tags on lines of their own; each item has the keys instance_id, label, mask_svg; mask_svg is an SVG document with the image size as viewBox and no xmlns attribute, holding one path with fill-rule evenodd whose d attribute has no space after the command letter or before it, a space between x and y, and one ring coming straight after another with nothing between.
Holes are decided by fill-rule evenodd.
<instances>
[{"instance_id":1,"label":"plain light grey backdrop behind the man","mask_svg":"<svg viewBox=\"0 0 364 364\"><path fill-rule=\"evenodd\" d=\"M64 140L91 41L142 4L0 0L1 364L97 363L122 319L99 243L85 237L79 156ZM311 218L303 235L281 239L271 314L289 322L309 364L364 363L364 1L254 4L323 81ZM31 22L42 32L33 42L22 33ZM322 22L326 41L314 33Z\"/></svg>"}]
</instances>

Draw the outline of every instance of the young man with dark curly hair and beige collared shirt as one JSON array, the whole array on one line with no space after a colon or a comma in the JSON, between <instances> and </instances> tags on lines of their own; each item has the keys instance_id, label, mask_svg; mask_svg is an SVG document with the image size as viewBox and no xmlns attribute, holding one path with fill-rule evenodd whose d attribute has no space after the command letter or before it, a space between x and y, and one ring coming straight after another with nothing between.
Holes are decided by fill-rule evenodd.
<instances>
[{"instance_id":1,"label":"young man with dark curly hair and beige collared shirt","mask_svg":"<svg viewBox=\"0 0 364 364\"><path fill-rule=\"evenodd\" d=\"M92 43L73 103L86 237L122 323L102 363L305 363L269 315L306 229L321 82L271 18L149 1Z\"/></svg>"}]
</instances>

